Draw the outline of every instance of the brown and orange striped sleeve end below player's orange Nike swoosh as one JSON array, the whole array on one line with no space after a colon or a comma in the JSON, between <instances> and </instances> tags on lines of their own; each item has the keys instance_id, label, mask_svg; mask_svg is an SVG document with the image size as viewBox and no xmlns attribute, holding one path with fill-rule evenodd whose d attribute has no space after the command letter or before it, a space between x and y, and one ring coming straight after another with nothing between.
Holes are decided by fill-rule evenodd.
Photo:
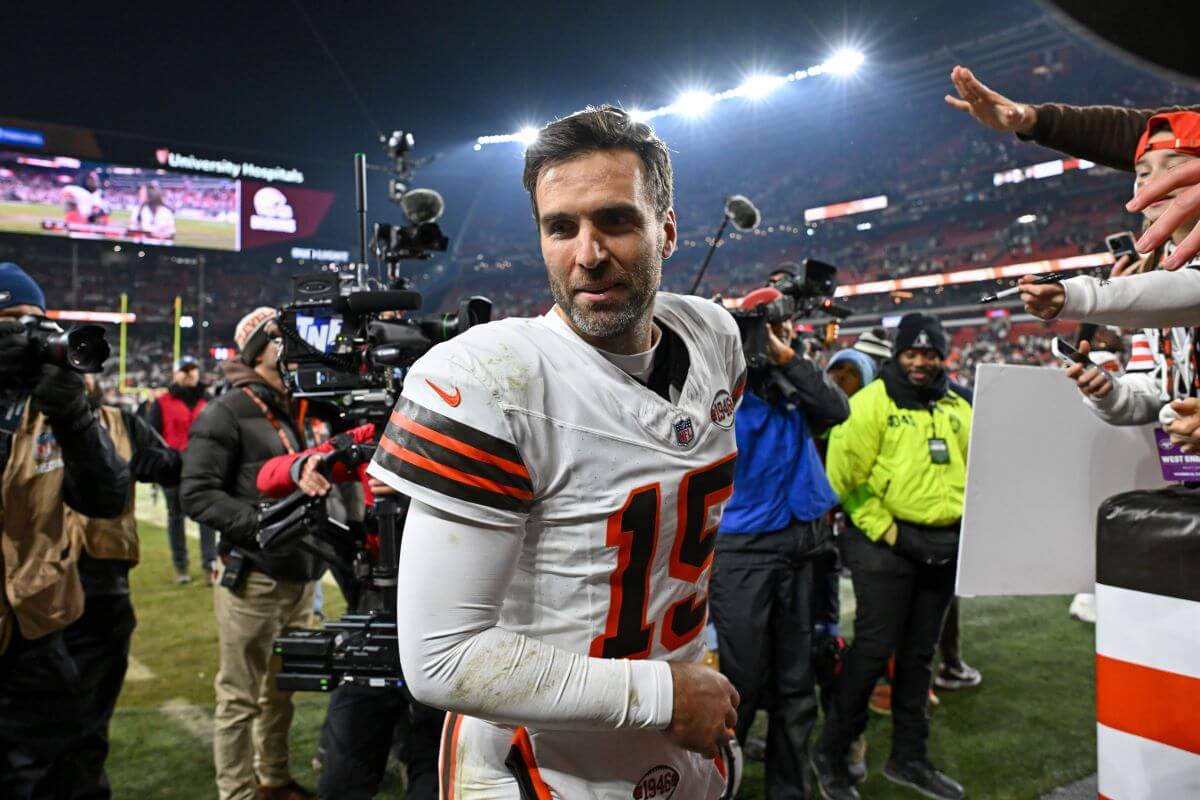
<instances>
[{"instance_id":1,"label":"brown and orange striped sleeve end below player's orange Nike swoosh","mask_svg":"<svg viewBox=\"0 0 1200 800\"><path fill-rule=\"evenodd\" d=\"M376 461L440 494L504 511L528 511L533 481L510 441L401 397Z\"/></svg>"}]
</instances>

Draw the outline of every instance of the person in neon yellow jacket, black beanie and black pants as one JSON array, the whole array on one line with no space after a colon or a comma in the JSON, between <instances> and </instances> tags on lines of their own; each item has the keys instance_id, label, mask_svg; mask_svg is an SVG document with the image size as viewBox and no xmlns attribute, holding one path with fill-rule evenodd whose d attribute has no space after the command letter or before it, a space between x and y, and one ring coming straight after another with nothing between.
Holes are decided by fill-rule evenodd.
<instances>
[{"instance_id":1,"label":"person in neon yellow jacket, black beanie and black pants","mask_svg":"<svg viewBox=\"0 0 1200 800\"><path fill-rule=\"evenodd\" d=\"M854 642L812 758L827 800L859 796L846 750L865 727L871 690L893 652L894 733L883 775L925 796L962 796L926 750L926 699L954 596L971 431L971 405L948 386L942 367L947 347L937 319L906 314L895 357L851 398L850 420L829 434L829 482L857 529L840 539L858 607Z\"/></svg>"}]
</instances>

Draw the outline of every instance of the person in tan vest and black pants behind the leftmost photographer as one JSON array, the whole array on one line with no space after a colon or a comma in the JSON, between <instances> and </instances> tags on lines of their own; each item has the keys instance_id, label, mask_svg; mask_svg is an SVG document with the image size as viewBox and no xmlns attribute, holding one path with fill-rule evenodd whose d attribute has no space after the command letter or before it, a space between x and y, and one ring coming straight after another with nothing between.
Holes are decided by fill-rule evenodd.
<instances>
[{"instance_id":1,"label":"person in tan vest and black pants behind the leftmost photographer","mask_svg":"<svg viewBox=\"0 0 1200 800\"><path fill-rule=\"evenodd\" d=\"M179 485L179 451L164 443L137 415L103 405L95 375L84 375L88 403L116 449L130 464L134 481ZM112 796L104 758L108 724L125 682L130 640L137 619L130 602L130 570L139 557L138 524L133 513L133 486L119 517L100 519L67 509L71 541L79 552L83 581L83 616L64 631L67 651L79 669L83 741L76 752L77 774L72 798Z\"/></svg>"}]
</instances>

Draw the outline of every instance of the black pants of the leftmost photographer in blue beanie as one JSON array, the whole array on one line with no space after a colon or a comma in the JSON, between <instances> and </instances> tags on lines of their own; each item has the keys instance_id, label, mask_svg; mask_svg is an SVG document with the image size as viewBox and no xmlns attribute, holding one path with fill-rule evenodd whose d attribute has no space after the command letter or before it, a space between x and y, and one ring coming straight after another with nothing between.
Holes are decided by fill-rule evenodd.
<instances>
[{"instance_id":1,"label":"black pants of the leftmost photographer in blue beanie","mask_svg":"<svg viewBox=\"0 0 1200 800\"><path fill-rule=\"evenodd\" d=\"M78 685L61 632L26 640L13 631L0 655L0 798L71 796L83 734Z\"/></svg>"}]
</instances>

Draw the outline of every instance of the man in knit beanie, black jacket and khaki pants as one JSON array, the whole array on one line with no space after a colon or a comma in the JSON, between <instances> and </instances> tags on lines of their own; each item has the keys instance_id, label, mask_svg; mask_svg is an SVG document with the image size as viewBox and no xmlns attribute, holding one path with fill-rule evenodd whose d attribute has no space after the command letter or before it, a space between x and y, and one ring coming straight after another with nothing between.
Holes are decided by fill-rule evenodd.
<instances>
[{"instance_id":1,"label":"man in knit beanie, black jacket and khaki pants","mask_svg":"<svg viewBox=\"0 0 1200 800\"><path fill-rule=\"evenodd\" d=\"M246 314L234 333L240 355L221 365L229 390L210 402L184 452L184 511L221 531L212 606L221 646L214 759L221 800L312 798L288 770L292 693L266 681L271 648L305 627L313 607L314 559L302 551L264 554L256 539L263 499L256 481L270 458L305 449L280 372L274 308Z\"/></svg>"}]
</instances>

